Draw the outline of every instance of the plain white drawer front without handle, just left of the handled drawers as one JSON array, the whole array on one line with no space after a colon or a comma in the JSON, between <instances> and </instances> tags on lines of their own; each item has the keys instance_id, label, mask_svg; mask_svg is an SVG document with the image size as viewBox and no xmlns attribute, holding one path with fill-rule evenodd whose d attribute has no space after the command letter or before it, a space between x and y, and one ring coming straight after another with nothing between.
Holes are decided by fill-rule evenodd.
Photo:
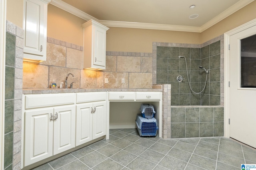
<instances>
[{"instance_id":1,"label":"plain white drawer front without handle, just left of the handled drawers","mask_svg":"<svg viewBox=\"0 0 256 170\"><path fill-rule=\"evenodd\" d=\"M76 103L105 101L106 92L85 92L76 94Z\"/></svg>"}]
</instances>

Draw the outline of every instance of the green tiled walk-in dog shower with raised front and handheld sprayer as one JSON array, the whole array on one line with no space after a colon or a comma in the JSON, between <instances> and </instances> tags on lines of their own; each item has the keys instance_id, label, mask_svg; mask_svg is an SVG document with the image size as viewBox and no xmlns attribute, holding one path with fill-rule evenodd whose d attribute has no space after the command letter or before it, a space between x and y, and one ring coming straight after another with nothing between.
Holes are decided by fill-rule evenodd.
<instances>
[{"instance_id":1,"label":"green tiled walk-in dog shower with raised front and handheld sprayer","mask_svg":"<svg viewBox=\"0 0 256 170\"><path fill-rule=\"evenodd\" d=\"M157 43L156 84L171 85L168 100L170 109L167 108L167 116L170 116L170 136L167 136L170 138L224 135L224 107L221 101L221 65L224 65L224 59L221 57L221 39L220 36L202 45ZM186 57L186 61L184 57L179 56ZM199 66L209 72L204 90L206 72ZM201 94L195 94L190 90L187 70L192 90L203 90ZM182 76L184 80L178 82L178 76Z\"/></svg>"}]
</instances>

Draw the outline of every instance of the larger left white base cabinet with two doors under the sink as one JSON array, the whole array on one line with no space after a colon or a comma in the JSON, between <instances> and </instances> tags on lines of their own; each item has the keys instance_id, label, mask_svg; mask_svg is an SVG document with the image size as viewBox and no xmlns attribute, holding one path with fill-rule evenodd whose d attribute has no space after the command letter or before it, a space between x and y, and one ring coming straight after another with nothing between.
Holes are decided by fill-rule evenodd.
<instances>
[{"instance_id":1,"label":"larger left white base cabinet with two doors under the sink","mask_svg":"<svg viewBox=\"0 0 256 170\"><path fill-rule=\"evenodd\" d=\"M75 94L24 95L24 166L75 147Z\"/></svg>"}]
</instances>

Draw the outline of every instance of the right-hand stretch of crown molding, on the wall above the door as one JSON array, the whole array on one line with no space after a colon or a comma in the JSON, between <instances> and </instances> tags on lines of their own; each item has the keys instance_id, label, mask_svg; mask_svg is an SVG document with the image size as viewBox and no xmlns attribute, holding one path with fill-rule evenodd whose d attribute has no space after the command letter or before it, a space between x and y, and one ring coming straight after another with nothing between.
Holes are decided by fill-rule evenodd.
<instances>
[{"instance_id":1,"label":"right-hand stretch of crown molding, on the wall above the door","mask_svg":"<svg viewBox=\"0 0 256 170\"><path fill-rule=\"evenodd\" d=\"M236 4L234 4L233 6L230 6L227 10L220 13L218 16L214 17L212 20L210 20L207 23L205 23L204 25L202 25L200 27L200 32L205 31L206 29L210 28L212 25L214 25L214 24L218 23L219 21L227 18L231 14L235 13L236 11L240 10L241 8L250 4L253 1L254 0L240 0L240 1L238 1Z\"/></svg>"}]
</instances>

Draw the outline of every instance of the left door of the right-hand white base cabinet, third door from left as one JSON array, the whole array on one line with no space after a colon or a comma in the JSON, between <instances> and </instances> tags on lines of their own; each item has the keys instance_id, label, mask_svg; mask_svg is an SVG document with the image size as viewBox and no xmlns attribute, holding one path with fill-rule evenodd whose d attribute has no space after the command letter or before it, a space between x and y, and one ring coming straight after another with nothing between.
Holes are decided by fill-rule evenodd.
<instances>
[{"instance_id":1,"label":"left door of the right-hand white base cabinet, third door from left","mask_svg":"<svg viewBox=\"0 0 256 170\"><path fill-rule=\"evenodd\" d=\"M76 146L92 141L92 103L76 106Z\"/></svg>"}]
</instances>

